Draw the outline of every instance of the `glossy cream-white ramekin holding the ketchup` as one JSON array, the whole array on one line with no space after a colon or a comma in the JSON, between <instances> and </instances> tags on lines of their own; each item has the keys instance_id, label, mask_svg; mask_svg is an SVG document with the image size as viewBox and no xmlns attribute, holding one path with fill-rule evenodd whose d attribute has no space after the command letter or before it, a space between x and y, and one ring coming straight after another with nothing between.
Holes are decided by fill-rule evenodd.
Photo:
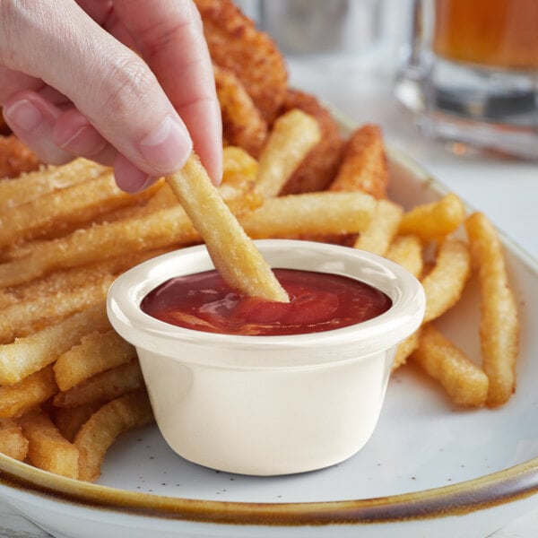
<instances>
[{"instance_id":1,"label":"glossy cream-white ramekin holding the ketchup","mask_svg":"<svg viewBox=\"0 0 538 538\"><path fill-rule=\"evenodd\" d=\"M141 300L161 282L213 268L199 246L122 274L108 292L108 317L136 347L157 424L180 456L256 475L336 464L371 436L395 347L421 324L424 292L400 265L355 248L288 239L256 245L273 267L349 276L393 305L357 325L285 336L204 333L143 313Z\"/></svg>"}]
</instances>

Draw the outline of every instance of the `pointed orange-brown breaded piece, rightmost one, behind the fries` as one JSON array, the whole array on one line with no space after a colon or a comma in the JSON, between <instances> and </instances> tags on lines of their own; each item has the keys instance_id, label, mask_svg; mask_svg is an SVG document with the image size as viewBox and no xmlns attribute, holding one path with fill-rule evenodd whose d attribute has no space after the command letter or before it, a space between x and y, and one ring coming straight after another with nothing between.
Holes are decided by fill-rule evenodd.
<instances>
[{"instance_id":1,"label":"pointed orange-brown breaded piece, rightmost one, behind the fries","mask_svg":"<svg viewBox=\"0 0 538 538\"><path fill-rule=\"evenodd\" d=\"M331 190L360 190L386 198L388 170L385 144L379 126L364 125L355 130L343 151L343 161Z\"/></svg>"}]
</instances>

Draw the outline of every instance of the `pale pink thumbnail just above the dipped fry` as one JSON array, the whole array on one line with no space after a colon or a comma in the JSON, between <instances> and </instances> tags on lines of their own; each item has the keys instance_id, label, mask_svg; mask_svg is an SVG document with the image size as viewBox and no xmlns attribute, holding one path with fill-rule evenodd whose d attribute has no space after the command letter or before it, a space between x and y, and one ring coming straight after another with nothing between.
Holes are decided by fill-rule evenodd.
<instances>
[{"instance_id":1,"label":"pale pink thumbnail just above the dipped fry","mask_svg":"<svg viewBox=\"0 0 538 538\"><path fill-rule=\"evenodd\" d=\"M192 151L192 142L185 127L167 116L161 126L141 140L139 149L153 168L172 172L181 167Z\"/></svg>"}]
</instances>

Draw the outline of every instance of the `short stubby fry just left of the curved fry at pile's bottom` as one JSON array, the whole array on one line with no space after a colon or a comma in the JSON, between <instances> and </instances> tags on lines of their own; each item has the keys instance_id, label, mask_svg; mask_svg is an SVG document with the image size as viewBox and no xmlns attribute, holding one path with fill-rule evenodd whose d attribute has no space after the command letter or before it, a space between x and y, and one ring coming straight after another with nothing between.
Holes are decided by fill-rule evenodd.
<instances>
[{"instance_id":1,"label":"short stubby fry just left of the curved fry at pile's bottom","mask_svg":"<svg viewBox=\"0 0 538 538\"><path fill-rule=\"evenodd\" d=\"M20 420L22 433L28 439L31 464L50 473L78 478L79 450L62 437L46 412L28 412Z\"/></svg>"}]
</instances>

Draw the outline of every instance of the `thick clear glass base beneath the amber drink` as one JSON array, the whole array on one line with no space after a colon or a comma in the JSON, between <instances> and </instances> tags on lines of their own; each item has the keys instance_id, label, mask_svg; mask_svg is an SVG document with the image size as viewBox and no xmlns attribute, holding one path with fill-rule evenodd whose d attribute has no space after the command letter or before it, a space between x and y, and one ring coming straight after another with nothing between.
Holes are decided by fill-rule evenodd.
<instances>
[{"instance_id":1,"label":"thick clear glass base beneath the amber drink","mask_svg":"<svg viewBox=\"0 0 538 538\"><path fill-rule=\"evenodd\" d=\"M395 81L421 131L451 143L538 160L538 74L422 56Z\"/></svg>"}]
</instances>

